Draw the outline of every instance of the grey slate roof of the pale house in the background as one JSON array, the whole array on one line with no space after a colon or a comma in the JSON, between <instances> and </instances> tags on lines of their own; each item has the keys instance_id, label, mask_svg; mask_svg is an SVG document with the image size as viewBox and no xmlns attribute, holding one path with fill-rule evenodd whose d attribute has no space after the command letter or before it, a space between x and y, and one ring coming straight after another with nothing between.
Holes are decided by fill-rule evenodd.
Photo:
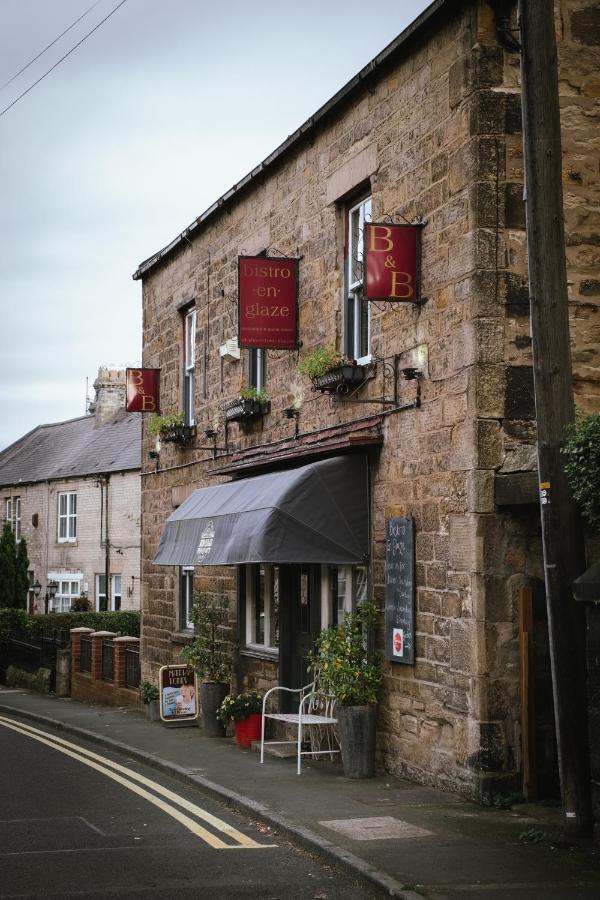
<instances>
[{"instance_id":1,"label":"grey slate roof of the pale house in the background","mask_svg":"<svg viewBox=\"0 0 600 900\"><path fill-rule=\"evenodd\" d=\"M0 486L141 468L139 413L123 410L94 424L94 416L82 416L38 425L0 453Z\"/></svg>"}]
</instances>

